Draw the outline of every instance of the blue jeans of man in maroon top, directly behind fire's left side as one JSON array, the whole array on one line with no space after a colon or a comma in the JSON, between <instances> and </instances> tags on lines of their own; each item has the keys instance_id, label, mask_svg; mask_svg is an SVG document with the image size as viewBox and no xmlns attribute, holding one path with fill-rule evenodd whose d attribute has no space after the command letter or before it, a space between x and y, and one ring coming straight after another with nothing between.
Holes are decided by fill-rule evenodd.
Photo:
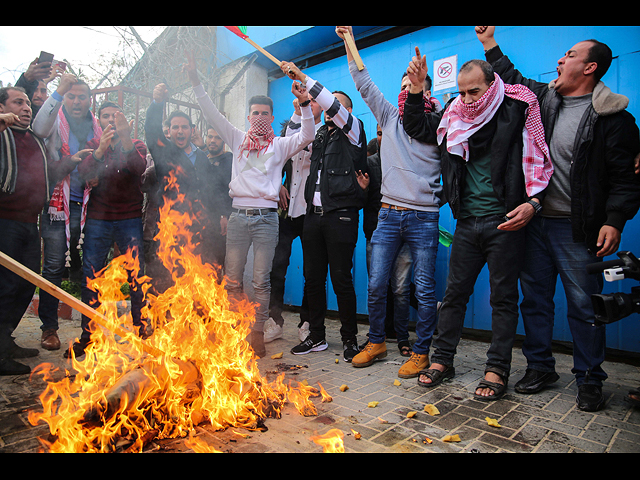
<instances>
[{"instance_id":1,"label":"blue jeans of man in maroon top, directly behind fire's left side","mask_svg":"<svg viewBox=\"0 0 640 480\"><path fill-rule=\"evenodd\" d=\"M107 266L107 258L113 244L118 245L122 254L129 250L137 249L140 262L140 272L144 272L144 246L142 238L142 219L133 218L130 220L93 220L88 218L84 228L83 262L82 262L82 301L83 303L96 308L98 294L87 288L87 278L95 278L95 273L100 272ZM94 273L95 272L95 273ZM133 324L142 333L143 323L141 310L144 302L144 294L139 288L138 279L129 272L129 284L131 292L131 316ZM83 341L88 341L91 332L89 318L82 316L82 337Z\"/></svg>"}]
</instances>

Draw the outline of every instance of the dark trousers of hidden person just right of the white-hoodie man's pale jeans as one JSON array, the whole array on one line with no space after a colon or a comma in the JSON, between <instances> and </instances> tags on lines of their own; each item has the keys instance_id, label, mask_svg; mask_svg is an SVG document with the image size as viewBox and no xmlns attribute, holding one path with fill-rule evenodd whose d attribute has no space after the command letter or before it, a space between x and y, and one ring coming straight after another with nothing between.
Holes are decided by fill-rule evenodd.
<instances>
[{"instance_id":1,"label":"dark trousers of hidden person just right of the white-hoodie man's pale jeans","mask_svg":"<svg viewBox=\"0 0 640 480\"><path fill-rule=\"evenodd\" d=\"M282 310L284 308L284 285L287 277L287 270L291 259L291 245L293 241L300 237L302 249L304 251L304 219L305 215L298 218L280 217L280 230L278 234L278 246L273 257L273 267L271 269L271 301L269 302L269 315L280 326L284 324ZM303 287L302 306L300 308L300 324L309 321L306 289Z\"/></svg>"}]
</instances>

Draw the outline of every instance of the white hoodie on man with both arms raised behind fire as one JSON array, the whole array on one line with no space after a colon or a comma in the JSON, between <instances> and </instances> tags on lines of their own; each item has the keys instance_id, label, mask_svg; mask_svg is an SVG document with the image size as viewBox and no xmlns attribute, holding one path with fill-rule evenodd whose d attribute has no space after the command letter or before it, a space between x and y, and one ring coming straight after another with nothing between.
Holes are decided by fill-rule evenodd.
<instances>
[{"instance_id":1,"label":"white hoodie on man with both arms raised behind fire","mask_svg":"<svg viewBox=\"0 0 640 480\"><path fill-rule=\"evenodd\" d=\"M207 122L218 132L233 153L229 195L233 208L278 208L285 162L315 139L315 122L310 106L302 108L302 129L290 137L275 137L260 152L240 152L246 132L234 127L216 108L202 85L193 88Z\"/></svg>"}]
</instances>

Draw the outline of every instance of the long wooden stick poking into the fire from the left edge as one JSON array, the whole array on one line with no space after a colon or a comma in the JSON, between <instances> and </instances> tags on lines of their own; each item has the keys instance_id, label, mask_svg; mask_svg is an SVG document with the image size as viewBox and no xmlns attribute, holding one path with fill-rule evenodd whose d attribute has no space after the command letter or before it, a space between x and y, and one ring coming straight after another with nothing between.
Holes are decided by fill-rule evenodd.
<instances>
[{"instance_id":1,"label":"long wooden stick poking into the fire from the left edge","mask_svg":"<svg viewBox=\"0 0 640 480\"><path fill-rule=\"evenodd\" d=\"M45 278L42 278L40 275L37 275L36 273L34 273L32 270L28 269L21 263L16 262L13 258L9 257L3 252L0 252L0 265L11 270L13 273L18 275L19 277L24 278L29 283L34 284L36 287L39 287L41 290L44 290L45 292L53 295L55 298L69 305L74 310L82 313L83 315L86 315L101 327L104 327L107 330L112 330L113 333L115 333L116 335L120 337L125 337L128 333L131 333L121 328L112 329L111 327L109 327L109 323L106 317L104 317L103 315L101 315L100 313L98 313L88 305L82 303L76 297L68 294L61 288L58 288L57 286L55 286L53 283L49 282ZM148 354L153 355L155 357L161 357L164 355L163 352L147 344L142 339L135 336L133 336L132 338L134 339L134 341L140 342L142 349Z\"/></svg>"}]
</instances>

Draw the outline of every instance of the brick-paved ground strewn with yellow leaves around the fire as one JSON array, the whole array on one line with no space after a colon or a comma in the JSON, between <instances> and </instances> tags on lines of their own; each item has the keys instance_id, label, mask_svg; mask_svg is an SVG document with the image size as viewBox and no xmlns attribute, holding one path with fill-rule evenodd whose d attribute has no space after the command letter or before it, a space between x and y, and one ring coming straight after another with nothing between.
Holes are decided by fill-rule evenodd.
<instances>
[{"instance_id":1,"label":"brick-paved ground strewn with yellow leaves around the fire","mask_svg":"<svg viewBox=\"0 0 640 480\"><path fill-rule=\"evenodd\" d=\"M319 382L333 397L331 403L314 401L318 416L303 417L287 405L281 419L268 419L266 432L227 429L215 432L198 427L197 436L222 452L254 453L321 453L311 437L331 429L341 430L347 453L638 453L640 452L640 409L625 400L630 389L640 385L640 369L622 363L607 362L609 380L605 385L606 409L585 413L576 409L577 387L571 375L570 356L557 355L560 381L535 396L523 396L513 391L521 378L526 362L520 350L514 351L511 385L507 396L496 403L473 400L473 392L484 371L487 344L463 340L457 357L456 378L433 390L420 387L416 380L397 377L404 358L397 346L389 342L389 356L367 369L355 369L342 360L340 324L327 320L329 350L306 356L290 353L298 343L299 317L285 314L284 338L267 345L267 357L259 361L267 380L275 377L279 364L300 368L287 373L287 378ZM77 317L61 320L60 339L68 344L80 334ZM359 340L368 331L360 325ZM40 321L27 316L16 331L16 342L23 347L40 348ZM63 350L47 352L25 360L31 367L53 363L63 367ZM283 353L283 358L271 356ZM336 359L338 362L336 363ZM399 385L394 384L398 380ZM340 391L341 385L349 388ZM38 395L42 382L29 376L0 377L0 453L38 452L38 436L46 438L46 425L32 427L28 411L39 409ZM370 402L378 402L375 408ZM440 414L430 416L425 405L435 405ZM408 418L409 412L417 412ZM500 428L491 427L487 418L497 420ZM353 431L361 435L356 439ZM242 435L238 435L242 433ZM446 443L448 435L458 435L459 443ZM432 441L428 443L426 439ZM149 452L191 452L183 439L152 443Z\"/></svg>"}]
</instances>

